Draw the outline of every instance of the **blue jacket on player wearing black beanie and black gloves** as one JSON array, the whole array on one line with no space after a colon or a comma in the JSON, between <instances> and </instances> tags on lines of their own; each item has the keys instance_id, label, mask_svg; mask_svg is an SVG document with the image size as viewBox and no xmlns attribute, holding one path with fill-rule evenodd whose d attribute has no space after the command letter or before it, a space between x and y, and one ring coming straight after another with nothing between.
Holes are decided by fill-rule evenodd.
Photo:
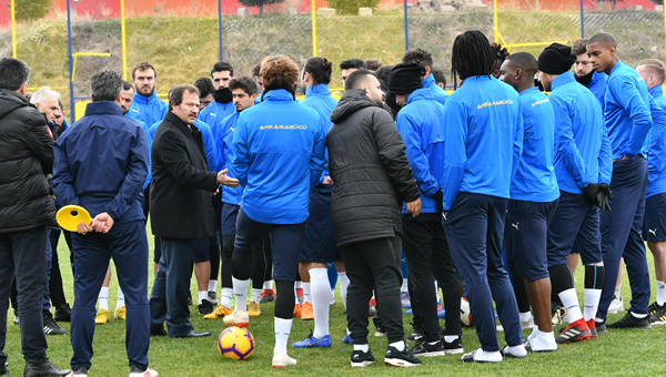
<instances>
[{"instance_id":1,"label":"blue jacket on player wearing black beanie and black gloves","mask_svg":"<svg viewBox=\"0 0 666 377\"><path fill-rule=\"evenodd\" d=\"M552 89L559 190L582 194L589 183L610 183L610 143L596 98L572 72L555 78Z\"/></svg>"}]
</instances>

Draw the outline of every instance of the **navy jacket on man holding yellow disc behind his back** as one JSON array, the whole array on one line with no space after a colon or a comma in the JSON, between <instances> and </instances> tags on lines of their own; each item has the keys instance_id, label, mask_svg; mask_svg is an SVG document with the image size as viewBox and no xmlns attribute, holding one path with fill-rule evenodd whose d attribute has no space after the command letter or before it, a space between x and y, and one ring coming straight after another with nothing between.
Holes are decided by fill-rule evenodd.
<instances>
[{"instance_id":1,"label":"navy jacket on man holding yellow disc behind his back","mask_svg":"<svg viewBox=\"0 0 666 377\"><path fill-rule=\"evenodd\" d=\"M81 205L92 217L107 212L115 223L145 218L145 132L118 104L89 103L85 116L58 137L53 153L53 193L61 205Z\"/></svg>"}]
</instances>

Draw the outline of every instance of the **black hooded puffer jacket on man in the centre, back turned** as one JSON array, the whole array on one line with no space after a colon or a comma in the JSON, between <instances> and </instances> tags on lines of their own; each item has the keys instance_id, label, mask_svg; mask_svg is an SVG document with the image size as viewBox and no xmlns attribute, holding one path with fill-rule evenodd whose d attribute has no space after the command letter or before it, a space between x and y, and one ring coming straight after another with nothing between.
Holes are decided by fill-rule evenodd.
<instances>
[{"instance_id":1,"label":"black hooded puffer jacket on man in the centre, back turned","mask_svg":"<svg viewBox=\"0 0 666 377\"><path fill-rule=\"evenodd\" d=\"M326 135L337 246L402 234L403 201L418 198L391 114L362 89L344 92Z\"/></svg>"}]
</instances>

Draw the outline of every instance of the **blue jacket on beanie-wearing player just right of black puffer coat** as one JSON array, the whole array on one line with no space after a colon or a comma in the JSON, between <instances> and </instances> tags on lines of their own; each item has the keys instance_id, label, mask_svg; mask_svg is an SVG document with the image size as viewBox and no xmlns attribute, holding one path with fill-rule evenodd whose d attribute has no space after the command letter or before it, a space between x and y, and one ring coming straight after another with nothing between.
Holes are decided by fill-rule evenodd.
<instances>
[{"instance_id":1,"label":"blue jacket on beanie-wearing player just right of black puffer coat","mask_svg":"<svg viewBox=\"0 0 666 377\"><path fill-rule=\"evenodd\" d=\"M427 88L413 91L396 118L397 131L421 190L421 213L437 213L433 197L442 190L444 174L444 105ZM406 205L403 206L406 214Z\"/></svg>"}]
</instances>

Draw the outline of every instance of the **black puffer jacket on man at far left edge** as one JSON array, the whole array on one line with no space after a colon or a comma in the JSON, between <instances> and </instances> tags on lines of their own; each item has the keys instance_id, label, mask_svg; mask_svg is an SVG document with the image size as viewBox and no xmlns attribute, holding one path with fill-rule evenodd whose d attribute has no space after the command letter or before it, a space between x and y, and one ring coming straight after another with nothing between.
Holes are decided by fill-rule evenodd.
<instances>
[{"instance_id":1,"label":"black puffer jacket on man at far left edge","mask_svg":"<svg viewBox=\"0 0 666 377\"><path fill-rule=\"evenodd\" d=\"M0 89L0 233L56 225L49 195L53 140L44 114Z\"/></svg>"}]
</instances>

